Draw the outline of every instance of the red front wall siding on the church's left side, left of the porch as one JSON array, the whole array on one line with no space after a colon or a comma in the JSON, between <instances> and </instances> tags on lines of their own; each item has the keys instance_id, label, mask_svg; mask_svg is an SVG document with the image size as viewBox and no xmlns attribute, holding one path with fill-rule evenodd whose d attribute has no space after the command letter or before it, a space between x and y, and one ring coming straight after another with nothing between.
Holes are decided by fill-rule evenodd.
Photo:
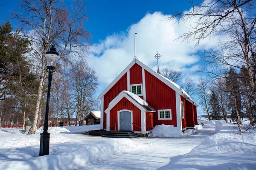
<instances>
[{"instance_id":1,"label":"red front wall siding on the church's left side, left of the porch","mask_svg":"<svg viewBox=\"0 0 256 170\"><path fill-rule=\"evenodd\" d=\"M116 82L115 85L104 95L104 111L108 108L108 104L119 94L121 91L127 91L127 73ZM107 114L104 112L103 128L107 125Z\"/></svg>"}]
</instances>

